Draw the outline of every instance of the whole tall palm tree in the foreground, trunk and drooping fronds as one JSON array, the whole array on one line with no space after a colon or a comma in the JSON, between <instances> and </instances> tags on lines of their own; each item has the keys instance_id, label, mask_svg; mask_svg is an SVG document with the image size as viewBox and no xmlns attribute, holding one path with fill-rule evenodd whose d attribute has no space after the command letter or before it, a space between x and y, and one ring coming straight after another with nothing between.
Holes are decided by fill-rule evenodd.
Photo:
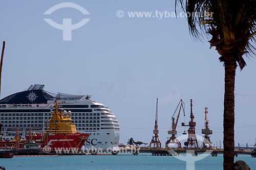
<instances>
[{"instance_id":1,"label":"whole tall palm tree in the foreground, trunk and drooping fronds","mask_svg":"<svg viewBox=\"0 0 256 170\"><path fill-rule=\"evenodd\" d=\"M196 39L210 35L225 68L224 94L224 169L233 169L234 161L234 82L237 63L246 66L245 53L255 48L255 0L175 0L187 12L190 34ZM190 14L197 14L191 15ZM210 15L208 15L210 14Z\"/></svg>"}]
</instances>

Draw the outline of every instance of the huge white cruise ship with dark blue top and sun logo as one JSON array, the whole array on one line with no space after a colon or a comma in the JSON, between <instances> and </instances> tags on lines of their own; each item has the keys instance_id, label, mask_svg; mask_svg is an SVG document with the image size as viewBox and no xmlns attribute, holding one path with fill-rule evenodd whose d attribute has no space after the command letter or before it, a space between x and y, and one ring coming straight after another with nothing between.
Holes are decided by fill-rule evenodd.
<instances>
[{"instance_id":1,"label":"huge white cruise ship with dark blue top and sun logo","mask_svg":"<svg viewBox=\"0 0 256 170\"><path fill-rule=\"evenodd\" d=\"M90 100L91 95L88 94L56 94L45 91L44 87L40 84L30 85L25 91L0 100L3 140L13 140L17 132L22 139L31 132L44 134L54 101L57 100L60 109L71 111L77 131L90 134L83 147L118 150L120 128L116 116L108 107Z\"/></svg>"}]
</instances>

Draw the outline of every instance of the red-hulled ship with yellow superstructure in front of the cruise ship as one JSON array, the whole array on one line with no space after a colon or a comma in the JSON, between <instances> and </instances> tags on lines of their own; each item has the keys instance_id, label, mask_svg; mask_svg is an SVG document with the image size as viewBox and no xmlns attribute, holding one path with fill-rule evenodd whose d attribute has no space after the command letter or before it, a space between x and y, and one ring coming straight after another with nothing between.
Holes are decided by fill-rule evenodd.
<instances>
[{"instance_id":1,"label":"red-hulled ship with yellow superstructure in front of the cruise ship","mask_svg":"<svg viewBox=\"0 0 256 170\"><path fill-rule=\"evenodd\" d=\"M46 153L60 149L79 151L90 134L77 132L76 125L72 123L70 117L71 111L68 113L67 111L59 111L57 101L55 101L54 107L44 136L41 133L34 135L31 133L26 135L26 139L21 140L17 131L16 136L11 141L0 141L0 148L22 149L26 148L26 145L35 143L38 149L41 148Z\"/></svg>"}]
</instances>

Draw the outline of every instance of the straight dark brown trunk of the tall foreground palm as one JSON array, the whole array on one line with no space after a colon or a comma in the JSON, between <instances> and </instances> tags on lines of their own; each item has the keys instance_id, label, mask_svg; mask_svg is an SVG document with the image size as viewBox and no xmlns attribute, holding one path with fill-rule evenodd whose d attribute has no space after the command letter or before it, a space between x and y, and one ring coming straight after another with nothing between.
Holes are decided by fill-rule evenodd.
<instances>
[{"instance_id":1,"label":"straight dark brown trunk of the tall foreground palm","mask_svg":"<svg viewBox=\"0 0 256 170\"><path fill-rule=\"evenodd\" d=\"M233 169L234 164L234 81L237 62L233 56L226 56L224 94L224 169Z\"/></svg>"}]
</instances>

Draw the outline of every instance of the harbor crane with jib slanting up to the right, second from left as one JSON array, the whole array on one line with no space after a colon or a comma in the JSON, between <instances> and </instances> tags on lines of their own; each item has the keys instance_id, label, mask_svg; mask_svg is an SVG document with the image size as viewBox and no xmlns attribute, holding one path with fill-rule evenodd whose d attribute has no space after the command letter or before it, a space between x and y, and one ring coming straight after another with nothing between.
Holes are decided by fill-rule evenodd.
<instances>
[{"instance_id":1,"label":"harbor crane with jib slanting up to the right, second from left","mask_svg":"<svg viewBox=\"0 0 256 170\"><path fill-rule=\"evenodd\" d=\"M175 115L177 113L177 110L179 108L179 113L177 114L177 118L176 118L176 122L175 122ZM172 130L169 130L168 131L168 134L169 135L172 135L170 136L170 138L165 142L165 148L168 148L168 144L169 143L176 143L178 144L178 148L181 148L181 143L180 141L177 139L176 135L177 135L177 125L178 125L178 120L179 120L179 117L180 117L180 112L181 112L181 109L183 111L183 114L185 115L185 109L184 109L184 102L182 101L182 99L180 100L173 116L172 116Z\"/></svg>"}]
</instances>

